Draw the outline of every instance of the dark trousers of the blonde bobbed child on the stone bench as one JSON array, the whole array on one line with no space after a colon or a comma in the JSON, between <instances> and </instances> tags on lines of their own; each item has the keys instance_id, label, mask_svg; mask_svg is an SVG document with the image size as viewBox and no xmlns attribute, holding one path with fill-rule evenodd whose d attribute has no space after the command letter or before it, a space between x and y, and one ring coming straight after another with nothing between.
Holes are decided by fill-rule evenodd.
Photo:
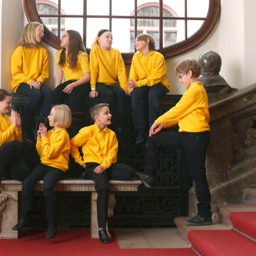
<instances>
[{"instance_id":1,"label":"dark trousers of the blonde bobbed child on the stone bench","mask_svg":"<svg viewBox=\"0 0 256 256\"><path fill-rule=\"evenodd\" d=\"M65 178L65 172L61 169L44 165L40 163L22 182L22 203L21 213L27 213L31 210L31 198L33 187L39 180L43 180L44 199L47 202L56 201L54 184Z\"/></svg>"}]
</instances>

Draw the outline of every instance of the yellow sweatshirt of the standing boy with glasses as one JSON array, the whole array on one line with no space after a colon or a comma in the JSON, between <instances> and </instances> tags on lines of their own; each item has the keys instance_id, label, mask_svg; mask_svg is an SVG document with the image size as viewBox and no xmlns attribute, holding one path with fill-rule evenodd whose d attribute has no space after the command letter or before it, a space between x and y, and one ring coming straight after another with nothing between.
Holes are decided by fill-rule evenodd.
<instances>
[{"instance_id":1,"label":"yellow sweatshirt of the standing boy with glasses","mask_svg":"<svg viewBox=\"0 0 256 256\"><path fill-rule=\"evenodd\" d=\"M195 82L185 91L180 101L162 116L155 120L155 124L164 127L179 125L180 132L209 131L210 114L208 98L201 82Z\"/></svg>"}]
</instances>

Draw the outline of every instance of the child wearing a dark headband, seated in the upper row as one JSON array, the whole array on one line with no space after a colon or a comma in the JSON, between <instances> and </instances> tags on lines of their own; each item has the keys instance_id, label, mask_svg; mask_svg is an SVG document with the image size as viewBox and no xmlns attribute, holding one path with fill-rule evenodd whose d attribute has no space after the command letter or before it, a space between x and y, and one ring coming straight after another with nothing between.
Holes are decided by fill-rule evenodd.
<instances>
[{"instance_id":1,"label":"child wearing a dark headband, seated in the upper row","mask_svg":"<svg viewBox=\"0 0 256 256\"><path fill-rule=\"evenodd\" d=\"M111 48L112 33L99 30L90 52L91 92L90 98L104 96L104 103L115 102L117 138L123 139L126 72L123 58L117 49ZM120 87L117 85L117 78Z\"/></svg>"}]
</instances>

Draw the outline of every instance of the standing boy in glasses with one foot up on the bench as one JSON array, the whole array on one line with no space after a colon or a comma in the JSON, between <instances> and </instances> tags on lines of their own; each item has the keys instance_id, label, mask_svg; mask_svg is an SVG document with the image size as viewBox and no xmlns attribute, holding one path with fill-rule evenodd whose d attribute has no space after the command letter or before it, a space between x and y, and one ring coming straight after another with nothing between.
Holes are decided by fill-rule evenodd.
<instances>
[{"instance_id":1,"label":"standing boy in glasses with one foot up on the bench","mask_svg":"<svg viewBox=\"0 0 256 256\"><path fill-rule=\"evenodd\" d=\"M210 142L208 98L197 77L202 67L194 59L185 59L177 64L175 73L187 88L180 101L168 112L158 117L149 131L144 172L137 172L139 180L150 188L158 166L160 147L183 148L186 152L190 174L195 182L198 200L196 217L185 223L190 226L212 225L210 212L210 190L206 178L206 149ZM159 133L163 128L179 125L179 131Z\"/></svg>"}]
</instances>

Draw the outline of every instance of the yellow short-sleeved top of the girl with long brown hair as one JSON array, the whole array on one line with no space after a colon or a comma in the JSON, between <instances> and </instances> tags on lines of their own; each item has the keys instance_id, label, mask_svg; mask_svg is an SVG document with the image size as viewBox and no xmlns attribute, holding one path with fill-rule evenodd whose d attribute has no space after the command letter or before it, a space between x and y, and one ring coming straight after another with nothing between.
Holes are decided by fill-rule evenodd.
<instances>
[{"instance_id":1,"label":"yellow short-sleeved top of the girl with long brown hair","mask_svg":"<svg viewBox=\"0 0 256 256\"><path fill-rule=\"evenodd\" d=\"M61 67L61 69L63 70L65 82L69 80L78 80L84 76L84 73L90 72L89 61L84 52L80 52L77 55L75 69L72 69L71 67L69 67L69 63L67 61L67 51L66 51L66 61L64 65L60 66L58 64L61 52L62 50L58 50L57 52L56 63L57 63L57 67Z\"/></svg>"}]
</instances>

